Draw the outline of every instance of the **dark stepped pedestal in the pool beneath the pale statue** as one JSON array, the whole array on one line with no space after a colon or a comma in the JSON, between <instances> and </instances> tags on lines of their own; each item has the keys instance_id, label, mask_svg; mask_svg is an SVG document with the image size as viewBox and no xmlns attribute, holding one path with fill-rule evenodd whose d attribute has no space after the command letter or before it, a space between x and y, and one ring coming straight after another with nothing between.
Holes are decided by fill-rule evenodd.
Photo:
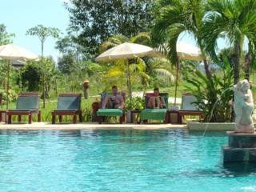
<instances>
[{"instance_id":1,"label":"dark stepped pedestal in the pool beneath the pale statue","mask_svg":"<svg viewBox=\"0 0 256 192\"><path fill-rule=\"evenodd\" d=\"M223 146L223 162L256 162L256 134L227 132L229 145Z\"/></svg>"}]
</instances>

